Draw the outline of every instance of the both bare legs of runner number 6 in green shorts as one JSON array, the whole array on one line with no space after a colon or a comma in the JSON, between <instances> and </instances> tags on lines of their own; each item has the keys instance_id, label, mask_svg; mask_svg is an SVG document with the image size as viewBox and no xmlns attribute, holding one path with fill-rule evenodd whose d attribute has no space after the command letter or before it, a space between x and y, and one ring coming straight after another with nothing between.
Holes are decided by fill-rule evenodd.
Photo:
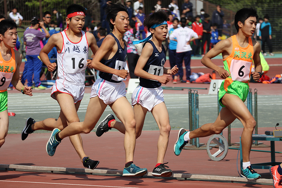
<instances>
[{"instance_id":1,"label":"both bare legs of runner number 6 in green shorts","mask_svg":"<svg viewBox=\"0 0 282 188\"><path fill-rule=\"evenodd\" d=\"M241 135L243 162L250 161L250 150L253 142L252 134L256 125L251 113L244 102L236 95L226 93L222 97L223 107L214 123L207 123L191 131L190 139L197 137L206 137L212 134L219 134L224 128L238 118L244 126Z\"/></svg>"}]
</instances>

